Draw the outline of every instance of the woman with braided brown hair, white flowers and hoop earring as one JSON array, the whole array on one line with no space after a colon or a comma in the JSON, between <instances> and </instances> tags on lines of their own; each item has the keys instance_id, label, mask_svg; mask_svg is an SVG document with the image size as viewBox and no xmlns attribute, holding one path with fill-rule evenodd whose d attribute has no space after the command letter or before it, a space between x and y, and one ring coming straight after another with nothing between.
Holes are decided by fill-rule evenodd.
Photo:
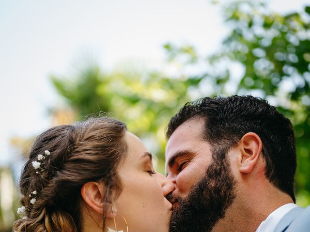
<instances>
[{"instance_id":1,"label":"woman with braided brown hair, white flowers and hoop earring","mask_svg":"<svg viewBox=\"0 0 310 232\"><path fill-rule=\"evenodd\" d=\"M20 178L16 232L168 232L172 182L124 123L91 118L38 136Z\"/></svg>"}]
</instances>

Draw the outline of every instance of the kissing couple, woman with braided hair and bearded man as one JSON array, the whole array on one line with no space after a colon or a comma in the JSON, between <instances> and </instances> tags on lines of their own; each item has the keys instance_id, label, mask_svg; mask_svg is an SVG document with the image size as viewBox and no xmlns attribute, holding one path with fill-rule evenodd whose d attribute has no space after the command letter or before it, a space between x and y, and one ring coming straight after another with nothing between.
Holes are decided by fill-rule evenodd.
<instances>
[{"instance_id":1,"label":"kissing couple, woman with braided hair and bearded man","mask_svg":"<svg viewBox=\"0 0 310 232\"><path fill-rule=\"evenodd\" d=\"M292 123L252 96L205 97L171 118L166 174L126 125L89 118L40 134L16 232L306 232Z\"/></svg>"}]
</instances>

